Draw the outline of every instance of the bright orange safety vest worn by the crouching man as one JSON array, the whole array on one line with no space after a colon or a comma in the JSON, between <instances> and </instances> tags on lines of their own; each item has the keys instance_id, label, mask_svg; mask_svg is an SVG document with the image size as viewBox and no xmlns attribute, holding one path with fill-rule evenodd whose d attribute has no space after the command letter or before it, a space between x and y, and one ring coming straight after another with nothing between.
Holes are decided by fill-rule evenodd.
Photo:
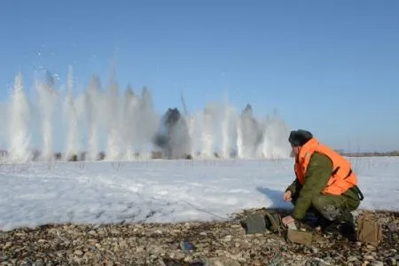
<instances>
[{"instance_id":1,"label":"bright orange safety vest worn by the crouching man","mask_svg":"<svg viewBox=\"0 0 399 266\"><path fill-rule=\"evenodd\" d=\"M305 183L310 157L315 152L325 154L332 160L332 175L323 191L324 194L340 195L357 184L357 177L351 169L350 162L313 137L301 147L295 160L295 175L302 185Z\"/></svg>"}]
</instances>

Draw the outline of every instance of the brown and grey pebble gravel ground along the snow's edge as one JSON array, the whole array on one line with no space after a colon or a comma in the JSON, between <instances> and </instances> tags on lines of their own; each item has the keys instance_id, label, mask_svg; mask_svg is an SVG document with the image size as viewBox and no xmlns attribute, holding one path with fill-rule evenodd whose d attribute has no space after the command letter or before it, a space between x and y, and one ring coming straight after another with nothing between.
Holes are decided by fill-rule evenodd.
<instances>
[{"instance_id":1,"label":"brown and grey pebble gravel ground along the snow's edge","mask_svg":"<svg viewBox=\"0 0 399 266\"><path fill-rule=\"evenodd\" d=\"M0 231L0 265L396 265L399 213L378 246L314 233L310 246L278 234L246 235L239 218L214 223L47 224ZM194 246L182 250L181 241Z\"/></svg>"}]
</instances>

